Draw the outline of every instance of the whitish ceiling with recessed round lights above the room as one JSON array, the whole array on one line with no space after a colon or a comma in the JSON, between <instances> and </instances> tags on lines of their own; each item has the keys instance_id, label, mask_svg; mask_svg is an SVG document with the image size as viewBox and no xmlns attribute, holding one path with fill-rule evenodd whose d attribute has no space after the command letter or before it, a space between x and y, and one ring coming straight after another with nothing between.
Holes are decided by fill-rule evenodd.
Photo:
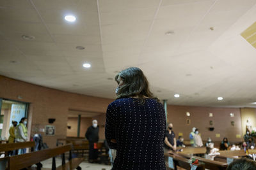
<instances>
[{"instance_id":1,"label":"whitish ceiling with recessed round lights above the room","mask_svg":"<svg viewBox=\"0 0 256 170\"><path fill-rule=\"evenodd\" d=\"M0 74L114 99L116 83L108 78L137 66L154 94L168 99L168 104L255 106L250 103L256 101L256 49L240 36L255 22L255 4L256 0L3 0ZM63 19L70 13L77 17L72 24ZM166 35L168 31L173 34ZM35 39L26 41L23 34ZM84 69L84 62L92 67ZM176 93L179 98L173 97ZM224 100L217 101L219 96Z\"/></svg>"}]
</instances>

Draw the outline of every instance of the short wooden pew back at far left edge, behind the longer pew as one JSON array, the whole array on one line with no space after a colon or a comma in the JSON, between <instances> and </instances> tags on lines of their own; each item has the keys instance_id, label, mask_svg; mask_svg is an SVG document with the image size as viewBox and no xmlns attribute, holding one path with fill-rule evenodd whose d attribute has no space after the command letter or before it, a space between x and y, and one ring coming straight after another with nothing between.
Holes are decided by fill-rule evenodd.
<instances>
[{"instance_id":1,"label":"short wooden pew back at far left edge, behind the longer pew","mask_svg":"<svg viewBox=\"0 0 256 170\"><path fill-rule=\"evenodd\" d=\"M31 148L31 151L33 151L33 148L35 147L35 142L28 141L28 142L19 142L19 143L1 143L0 144L0 152L5 152L4 156L8 156L8 152L13 150L19 150L22 148Z\"/></svg>"}]
</instances>

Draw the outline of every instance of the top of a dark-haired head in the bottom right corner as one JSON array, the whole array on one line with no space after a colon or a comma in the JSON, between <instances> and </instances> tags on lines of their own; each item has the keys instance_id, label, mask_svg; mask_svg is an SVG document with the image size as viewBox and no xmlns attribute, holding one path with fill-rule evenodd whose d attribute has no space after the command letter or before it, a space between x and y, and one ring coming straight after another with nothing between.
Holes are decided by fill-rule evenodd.
<instances>
[{"instance_id":1,"label":"top of a dark-haired head in the bottom right corner","mask_svg":"<svg viewBox=\"0 0 256 170\"><path fill-rule=\"evenodd\" d=\"M256 162L247 158L234 160L228 165L227 170L256 170Z\"/></svg>"}]
</instances>

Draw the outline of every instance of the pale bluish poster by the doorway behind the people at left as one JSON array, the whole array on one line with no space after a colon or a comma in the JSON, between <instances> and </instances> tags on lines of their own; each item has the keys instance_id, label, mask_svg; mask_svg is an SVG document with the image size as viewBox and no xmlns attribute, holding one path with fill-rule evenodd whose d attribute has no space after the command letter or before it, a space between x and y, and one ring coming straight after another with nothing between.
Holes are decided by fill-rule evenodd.
<instances>
[{"instance_id":1,"label":"pale bluish poster by the doorway behind the people at left","mask_svg":"<svg viewBox=\"0 0 256 170\"><path fill-rule=\"evenodd\" d=\"M20 122L22 117L25 117L25 104L12 104L11 117L10 117L10 125L12 125L12 121Z\"/></svg>"}]
</instances>

